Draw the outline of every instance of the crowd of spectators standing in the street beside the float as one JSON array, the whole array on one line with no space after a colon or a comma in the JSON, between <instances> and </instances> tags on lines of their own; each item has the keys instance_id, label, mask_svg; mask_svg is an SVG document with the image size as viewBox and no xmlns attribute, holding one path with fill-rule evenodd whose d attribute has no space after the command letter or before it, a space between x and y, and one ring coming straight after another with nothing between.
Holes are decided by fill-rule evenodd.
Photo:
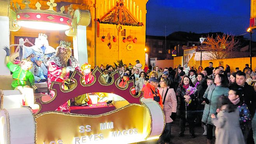
<instances>
[{"instance_id":1,"label":"crowd of spectators standing in the street beside the float","mask_svg":"<svg viewBox=\"0 0 256 144\"><path fill-rule=\"evenodd\" d=\"M139 60L132 66L101 65L104 75L118 71L120 87L126 87L128 80L134 80L136 90L162 107L165 115L165 129L159 143L171 141L171 123L179 118L179 137L184 136L185 126L190 137L195 138L194 127L201 125L207 136L207 144L246 144L256 141L256 68L236 68L219 65L198 69L195 66L175 66L174 69L145 66ZM114 70L115 69L115 70ZM111 78L109 76L109 78ZM106 80L111 82L111 80ZM253 140L254 139L254 140Z\"/></svg>"}]
</instances>

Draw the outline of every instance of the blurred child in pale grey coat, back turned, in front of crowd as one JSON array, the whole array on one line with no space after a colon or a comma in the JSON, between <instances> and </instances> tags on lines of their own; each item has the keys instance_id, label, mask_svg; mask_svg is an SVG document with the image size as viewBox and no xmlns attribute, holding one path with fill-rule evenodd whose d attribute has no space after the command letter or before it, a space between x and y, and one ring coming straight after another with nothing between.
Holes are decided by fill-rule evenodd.
<instances>
[{"instance_id":1,"label":"blurred child in pale grey coat, back turned, in front of crowd","mask_svg":"<svg viewBox=\"0 0 256 144\"><path fill-rule=\"evenodd\" d=\"M212 123L218 128L215 144L245 144L239 126L239 109L226 96L220 96L217 118L211 115Z\"/></svg>"}]
</instances>

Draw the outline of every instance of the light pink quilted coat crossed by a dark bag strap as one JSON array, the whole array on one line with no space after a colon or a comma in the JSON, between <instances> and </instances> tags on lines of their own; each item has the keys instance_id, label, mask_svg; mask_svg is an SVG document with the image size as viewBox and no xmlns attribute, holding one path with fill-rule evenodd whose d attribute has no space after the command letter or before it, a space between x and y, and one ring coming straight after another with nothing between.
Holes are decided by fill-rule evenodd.
<instances>
[{"instance_id":1,"label":"light pink quilted coat crossed by a dark bag strap","mask_svg":"<svg viewBox=\"0 0 256 144\"><path fill-rule=\"evenodd\" d=\"M167 91L167 88L169 88L169 86L167 86L166 88L161 88L159 87L159 93L160 95L162 95L162 101L164 101L164 95ZM165 123L171 123L173 120L170 118L172 112L176 113L177 110L177 99L176 99L176 95L174 92L173 88L169 88L166 97L165 97L165 102L164 102L164 116L165 116Z\"/></svg>"}]
</instances>

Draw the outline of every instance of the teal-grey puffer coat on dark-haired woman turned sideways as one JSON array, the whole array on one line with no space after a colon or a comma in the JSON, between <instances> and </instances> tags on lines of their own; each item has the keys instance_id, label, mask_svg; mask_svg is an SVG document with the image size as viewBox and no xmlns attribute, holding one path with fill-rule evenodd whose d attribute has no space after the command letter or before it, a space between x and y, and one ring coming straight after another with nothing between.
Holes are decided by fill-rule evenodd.
<instances>
[{"instance_id":1,"label":"teal-grey puffer coat on dark-haired woman turned sideways","mask_svg":"<svg viewBox=\"0 0 256 144\"><path fill-rule=\"evenodd\" d=\"M218 98L221 95L228 96L228 91L229 89L227 87L216 86L214 83L212 83L211 85L209 85L209 87L207 87L204 93L204 97L206 97L210 103L205 104L204 106L202 122L213 125L211 121L211 114L216 113Z\"/></svg>"}]
</instances>

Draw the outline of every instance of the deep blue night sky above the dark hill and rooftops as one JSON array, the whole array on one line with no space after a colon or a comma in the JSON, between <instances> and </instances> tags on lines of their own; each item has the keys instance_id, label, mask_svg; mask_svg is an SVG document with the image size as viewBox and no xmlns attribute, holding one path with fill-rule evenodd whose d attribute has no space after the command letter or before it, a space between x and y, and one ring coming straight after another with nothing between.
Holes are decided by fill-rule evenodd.
<instances>
[{"instance_id":1,"label":"deep blue night sky above the dark hill and rooftops","mask_svg":"<svg viewBox=\"0 0 256 144\"><path fill-rule=\"evenodd\" d=\"M146 35L164 36L165 26L167 35L174 31L241 35L249 27L250 7L251 0L148 0Z\"/></svg>"}]
</instances>

